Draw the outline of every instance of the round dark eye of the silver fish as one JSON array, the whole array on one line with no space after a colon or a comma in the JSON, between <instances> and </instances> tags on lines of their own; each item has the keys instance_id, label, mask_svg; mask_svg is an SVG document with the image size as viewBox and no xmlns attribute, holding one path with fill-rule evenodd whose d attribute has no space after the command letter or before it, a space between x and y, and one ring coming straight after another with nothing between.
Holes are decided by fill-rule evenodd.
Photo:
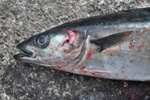
<instances>
[{"instance_id":1,"label":"round dark eye of the silver fish","mask_svg":"<svg viewBox=\"0 0 150 100\"><path fill-rule=\"evenodd\" d=\"M46 48L50 42L50 38L47 34L39 35L36 37L34 43L39 48Z\"/></svg>"}]
</instances>

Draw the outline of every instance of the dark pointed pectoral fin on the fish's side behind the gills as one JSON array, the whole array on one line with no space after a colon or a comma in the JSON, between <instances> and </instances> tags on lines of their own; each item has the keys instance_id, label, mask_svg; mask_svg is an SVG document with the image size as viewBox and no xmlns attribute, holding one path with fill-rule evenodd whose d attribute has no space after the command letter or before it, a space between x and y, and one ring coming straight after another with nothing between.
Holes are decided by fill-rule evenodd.
<instances>
[{"instance_id":1,"label":"dark pointed pectoral fin on the fish's side behind the gills","mask_svg":"<svg viewBox=\"0 0 150 100\"><path fill-rule=\"evenodd\" d=\"M132 32L133 31L116 33L107 37L103 37L101 39L90 40L90 43L99 46L100 47L99 52L101 52L107 48L117 46L123 43L132 34Z\"/></svg>"}]
</instances>

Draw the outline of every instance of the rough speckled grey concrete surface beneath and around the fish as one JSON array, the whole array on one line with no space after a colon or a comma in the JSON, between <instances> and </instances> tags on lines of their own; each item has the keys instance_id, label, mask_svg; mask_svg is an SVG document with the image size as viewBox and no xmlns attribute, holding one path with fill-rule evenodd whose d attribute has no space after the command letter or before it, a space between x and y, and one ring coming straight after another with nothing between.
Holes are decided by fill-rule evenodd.
<instances>
[{"instance_id":1,"label":"rough speckled grey concrete surface beneath and around the fish","mask_svg":"<svg viewBox=\"0 0 150 100\"><path fill-rule=\"evenodd\" d=\"M150 100L149 82L100 79L23 64L16 45L64 22L149 0L0 0L0 100Z\"/></svg>"}]
</instances>

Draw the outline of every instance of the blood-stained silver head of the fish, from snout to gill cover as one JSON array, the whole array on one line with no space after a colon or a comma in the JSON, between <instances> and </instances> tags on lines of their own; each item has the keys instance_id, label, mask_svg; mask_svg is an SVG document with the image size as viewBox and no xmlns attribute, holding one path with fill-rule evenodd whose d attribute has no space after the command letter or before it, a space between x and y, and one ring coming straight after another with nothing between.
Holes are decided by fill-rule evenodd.
<instances>
[{"instance_id":1,"label":"blood-stained silver head of the fish, from snout to gill cover","mask_svg":"<svg viewBox=\"0 0 150 100\"><path fill-rule=\"evenodd\" d=\"M62 66L70 64L83 52L84 34L77 31L47 31L35 35L17 45L23 53L15 59L42 66Z\"/></svg>"}]
</instances>

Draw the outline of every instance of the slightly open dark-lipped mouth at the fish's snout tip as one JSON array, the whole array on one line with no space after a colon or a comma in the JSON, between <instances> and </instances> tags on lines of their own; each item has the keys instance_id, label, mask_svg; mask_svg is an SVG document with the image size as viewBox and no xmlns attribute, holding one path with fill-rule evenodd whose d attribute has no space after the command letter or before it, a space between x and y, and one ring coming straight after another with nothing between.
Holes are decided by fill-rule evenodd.
<instances>
[{"instance_id":1,"label":"slightly open dark-lipped mouth at the fish's snout tip","mask_svg":"<svg viewBox=\"0 0 150 100\"><path fill-rule=\"evenodd\" d=\"M16 60L23 59L24 57L33 57L33 52L27 50L26 45L23 45L22 43L20 43L17 45L17 48L20 49L23 53L14 55L14 58Z\"/></svg>"}]
</instances>

